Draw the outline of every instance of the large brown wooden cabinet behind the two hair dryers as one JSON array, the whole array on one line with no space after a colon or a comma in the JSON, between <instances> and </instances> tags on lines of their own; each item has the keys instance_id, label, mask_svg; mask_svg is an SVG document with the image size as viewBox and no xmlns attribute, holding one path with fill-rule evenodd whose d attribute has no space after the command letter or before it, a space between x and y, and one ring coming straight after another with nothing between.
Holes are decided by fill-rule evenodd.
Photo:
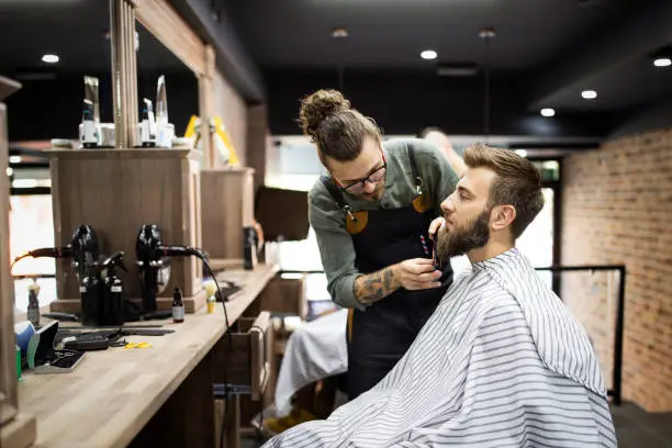
<instances>
[{"instance_id":1,"label":"large brown wooden cabinet behind the two hair dryers","mask_svg":"<svg viewBox=\"0 0 672 448\"><path fill-rule=\"evenodd\" d=\"M126 294L141 296L135 240L142 224L157 224L165 245L201 246L200 154L189 149L49 150L54 229L57 246L67 245L72 231L89 224L105 255L125 253L128 272L120 271ZM169 309L172 291L183 292L184 310L205 303L201 261L171 257L170 282L157 299ZM70 260L56 265L54 311L79 309L79 290ZM72 310L75 307L75 310Z\"/></svg>"}]
</instances>

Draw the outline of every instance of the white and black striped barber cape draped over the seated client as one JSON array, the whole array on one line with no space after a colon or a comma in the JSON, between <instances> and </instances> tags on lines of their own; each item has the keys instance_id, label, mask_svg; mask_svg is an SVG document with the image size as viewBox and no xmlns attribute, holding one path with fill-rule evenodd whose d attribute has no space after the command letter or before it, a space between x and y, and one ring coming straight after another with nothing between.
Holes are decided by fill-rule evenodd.
<instances>
[{"instance_id":1,"label":"white and black striped barber cape draped over the seated client","mask_svg":"<svg viewBox=\"0 0 672 448\"><path fill-rule=\"evenodd\" d=\"M444 446L617 446L585 332L515 248L460 276L373 389L265 445Z\"/></svg>"}]
</instances>

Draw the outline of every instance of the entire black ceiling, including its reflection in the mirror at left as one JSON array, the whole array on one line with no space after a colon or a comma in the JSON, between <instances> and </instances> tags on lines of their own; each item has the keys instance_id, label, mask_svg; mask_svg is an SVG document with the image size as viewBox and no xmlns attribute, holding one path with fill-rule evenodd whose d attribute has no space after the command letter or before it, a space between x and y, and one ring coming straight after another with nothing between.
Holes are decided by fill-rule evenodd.
<instances>
[{"instance_id":1,"label":"entire black ceiling, including its reflection in the mirror at left","mask_svg":"<svg viewBox=\"0 0 672 448\"><path fill-rule=\"evenodd\" d=\"M229 64L235 74L220 65L226 77L256 82L261 72L261 93L239 90L269 104L275 134L298 133L299 99L325 87L341 88L392 134L439 125L556 141L604 138L672 99L672 67L651 64L672 44L670 0L169 1L219 49L219 61L244 51L251 63ZM0 75L109 72L108 8L107 0L0 0ZM486 26L496 33L488 48L479 37ZM333 38L335 27L349 36ZM141 72L187 72L142 26L138 35ZM240 49L227 52L227 42ZM436 60L421 59L428 48ZM57 66L40 61L49 52L61 57ZM477 74L437 75L437 64L458 63ZM582 99L584 89L597 98ZM540 117L541 108L556 116Z\"/></svg>"}]
</instances>

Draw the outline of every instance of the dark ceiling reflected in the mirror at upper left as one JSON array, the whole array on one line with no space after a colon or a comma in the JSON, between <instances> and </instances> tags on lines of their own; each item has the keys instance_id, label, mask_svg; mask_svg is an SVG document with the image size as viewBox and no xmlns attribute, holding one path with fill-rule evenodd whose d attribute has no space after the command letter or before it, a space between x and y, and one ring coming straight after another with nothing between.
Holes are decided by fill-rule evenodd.
<instances>
[{"instance_id":1,"label":"dark ceiling reflected in the mirror at upper left","mask_svg":"<svg viewBox=\"0 0 672 448\"><path fill-rule=\"evenodd\" d=\"M110 71L107 0L0 0L0 75L20 80L37 74ZM187 70L160 42L137 24L138 71ZM43 63L56 54L56 65Z\"/></svg>"}]
</instances>

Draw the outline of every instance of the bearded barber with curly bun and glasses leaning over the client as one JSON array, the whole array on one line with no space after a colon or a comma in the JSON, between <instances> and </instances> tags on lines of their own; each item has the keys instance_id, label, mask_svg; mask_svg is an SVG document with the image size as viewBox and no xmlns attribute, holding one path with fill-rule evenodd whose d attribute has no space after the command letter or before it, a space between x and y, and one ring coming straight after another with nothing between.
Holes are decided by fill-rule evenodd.
<instances>
[{"instance_id":1,"label":"bearded barber with curly bun and glasses leaning over the client","mask_svg":"<svg viewBox=\"0 0 672 448\"><path fill-rule=\"evenodd\" d=\"M328 172L309 194L309 217L329 294L349 309L352 400L402 358L452 282L449 264L434 266L428 228L458 178L425 141L383 142L338 91L303 99L299 120Z\"/></svg>"}]
</instances>

